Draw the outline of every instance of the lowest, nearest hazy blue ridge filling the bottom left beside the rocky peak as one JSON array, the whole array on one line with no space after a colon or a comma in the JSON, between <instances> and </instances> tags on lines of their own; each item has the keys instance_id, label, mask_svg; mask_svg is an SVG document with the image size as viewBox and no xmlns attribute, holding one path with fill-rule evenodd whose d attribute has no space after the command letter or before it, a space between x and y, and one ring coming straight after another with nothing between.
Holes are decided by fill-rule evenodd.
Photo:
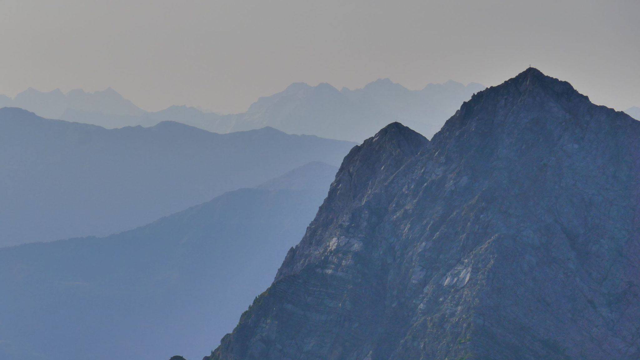
<instances>
[{"instance_id":1,"label":"lowest, nearest hazy blue ridge filling the bottom left beside the rocky peak","mask_svg":"<svg viewBox=\"0 0 640 360\"><path fill-rule=\"evenodd\" d=\"M273 281L336 172L310 163L125 233L0 249L0 358L202 356Z\"/></svg>"}]
</instances>

